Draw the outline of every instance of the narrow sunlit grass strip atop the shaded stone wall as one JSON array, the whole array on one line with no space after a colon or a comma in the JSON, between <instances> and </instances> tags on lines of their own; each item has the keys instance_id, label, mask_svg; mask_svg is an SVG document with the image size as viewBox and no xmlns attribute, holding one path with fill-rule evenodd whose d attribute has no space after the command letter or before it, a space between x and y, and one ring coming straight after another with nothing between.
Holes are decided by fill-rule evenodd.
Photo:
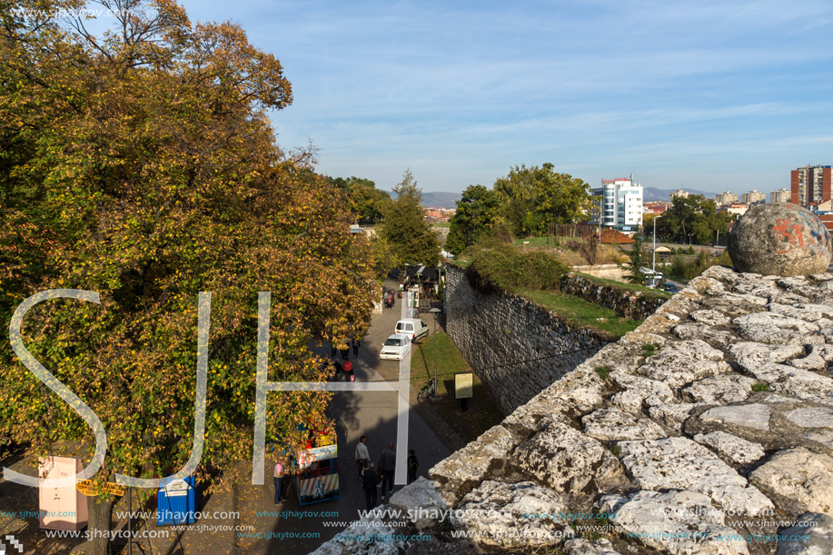
<instances>
[{"instance_id":1,"label":"narrow sunlit grass strip atop the shaded stone wall","mask_svg":"<svg viewBox=\"0 0 833 555\"><path fill-rule=\"evenodd\" d=\"M596 328L601 332L610 333L613 337L621 337L627 332L632 332L642 323L640 320L624 318L603 306L558 291L519 290L517 293L557 313L573 325ZM605 321L600 322L599 318L604 318Z\"/></svg>"}]
</instances>

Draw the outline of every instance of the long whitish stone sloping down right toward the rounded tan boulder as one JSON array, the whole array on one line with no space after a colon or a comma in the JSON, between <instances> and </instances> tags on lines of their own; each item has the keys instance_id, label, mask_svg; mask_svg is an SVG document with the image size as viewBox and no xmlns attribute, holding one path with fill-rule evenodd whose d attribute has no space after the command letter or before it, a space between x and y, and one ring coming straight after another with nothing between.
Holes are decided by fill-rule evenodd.
<instances>
[{"instance_id":1,"label":"long whitish stone sloping down right toward the rounded tan boulder","mask_svg":"<svg viewBox=\"0 0 833 555\"><path fill-rule=\"evenodd\" d=\"M620 441L621 462L646 490L678 489L704 493L724 510L758 514L772 509L760 491L711 451L688 438Z\"/></svg>"}]
</instances>

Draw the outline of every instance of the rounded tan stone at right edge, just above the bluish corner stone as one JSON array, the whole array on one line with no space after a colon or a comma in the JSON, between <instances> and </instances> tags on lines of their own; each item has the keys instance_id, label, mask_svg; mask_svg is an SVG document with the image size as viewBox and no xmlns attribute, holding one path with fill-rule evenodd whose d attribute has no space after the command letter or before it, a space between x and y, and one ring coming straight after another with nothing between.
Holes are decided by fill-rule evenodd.
<instances>
[{"instance_id":1,"label":"rounded tan stone at right edge, just above the bluish corner stone","mask_svg":"<svg viewBox=\"0 0 833 555\"><path fill-rule=\"evenodd\" d=\"M781 501L782 510L833 515L833 459L806 449L778 451L749 481Z\"/></svg>"}]
</instances>

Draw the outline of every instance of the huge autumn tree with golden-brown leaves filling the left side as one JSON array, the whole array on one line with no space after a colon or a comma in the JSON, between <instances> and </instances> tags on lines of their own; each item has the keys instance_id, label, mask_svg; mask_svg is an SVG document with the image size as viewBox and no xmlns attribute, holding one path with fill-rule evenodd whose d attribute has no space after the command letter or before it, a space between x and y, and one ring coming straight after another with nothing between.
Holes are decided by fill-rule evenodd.
<instances>
[{"instance_id":1,"label":"huge autumn tree with golden-brown leaves filling the left side","mask_svg":"<svg viewBox=\"0 0 833 555\"><path fill-rule=\"evenodd\" d=\"M307 345L366 327L372 257L311 155L275 143L266 111L292 89L273 55L236 25L191 25L170 0L104 5L117 28L103 37L55 20L77 2L0 5L3 329L35 292L99 292L35 306L25 344L104 423L96 481L162 477L192 449L197 294L213 292L197 478L233 479L230 463L252 457L257 293L272 292L270 381L319 381ZM88 460L84 421L2 341L0 434ZM270 394L267 440L292 449L299 425L326 429L329 399ZM114 503L99 500L93 529Z\"/></svg>"}]
</instances>

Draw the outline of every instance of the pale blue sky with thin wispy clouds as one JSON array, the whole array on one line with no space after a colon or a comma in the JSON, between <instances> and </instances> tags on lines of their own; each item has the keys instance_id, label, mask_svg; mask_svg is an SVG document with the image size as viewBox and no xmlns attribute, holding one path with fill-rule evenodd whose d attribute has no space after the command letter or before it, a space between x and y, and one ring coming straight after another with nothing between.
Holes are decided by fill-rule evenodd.
<instances>
[{"instance_id":1,"label":"pale blue sky with thin wispy clouds","mask_svg":"<svg viewBox=\"0 0 833 555\"><path fill-rule=\"evenodd\" d=\"M830 0L182 3L281 60L282 146L383 189L552 162L592 186L769 192L833 164Z\"/></svg>"}]
</instances>

